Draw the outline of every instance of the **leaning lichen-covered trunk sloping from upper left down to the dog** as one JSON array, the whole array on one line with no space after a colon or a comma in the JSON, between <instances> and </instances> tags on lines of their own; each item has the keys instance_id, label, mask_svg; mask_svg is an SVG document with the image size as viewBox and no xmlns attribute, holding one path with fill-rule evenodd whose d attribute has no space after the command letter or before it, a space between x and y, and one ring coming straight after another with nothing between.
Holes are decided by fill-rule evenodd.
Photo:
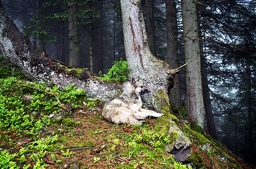
<instances>
[{"instance_id":1,"label":"leaning lichen-covered trunk sloping from upper left down to the dog","mask_svg":"<svg viewBox=\"0 0 256 169\"><path fill-rule=\"evenodd\" d=\"M47 82L59 87L72 84L85 90L86 94L109 100L120 91L116 84L104 83L93 78L86 69L80 74L69 72L57 63L53 57L36 51L29 39L16 28L6 15L0 1L0 49L3 56L29 79ZM75 75L73 75L75 74ZM122 86L120 86L122 87Z\"/></svg>"}]
</instances>

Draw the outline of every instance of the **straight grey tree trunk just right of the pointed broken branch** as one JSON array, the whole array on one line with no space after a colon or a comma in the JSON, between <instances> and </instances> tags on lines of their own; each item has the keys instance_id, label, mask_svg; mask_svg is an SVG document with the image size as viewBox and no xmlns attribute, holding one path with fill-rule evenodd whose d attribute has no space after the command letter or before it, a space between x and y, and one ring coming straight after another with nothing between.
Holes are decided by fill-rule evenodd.
<instances>
[{"instance_id":1,"label":"straight grey tree trunk just right of the pointed broken branch","mask_svg":"<svg viewBox=\"0 0 256 169\"><path fill-rule=\"evenodd\" d=\"M185 106L188 116L203 128L204 106L196 2L181 0L185 61L193 60L186 69Z\"/></svg>"}]
</instances>

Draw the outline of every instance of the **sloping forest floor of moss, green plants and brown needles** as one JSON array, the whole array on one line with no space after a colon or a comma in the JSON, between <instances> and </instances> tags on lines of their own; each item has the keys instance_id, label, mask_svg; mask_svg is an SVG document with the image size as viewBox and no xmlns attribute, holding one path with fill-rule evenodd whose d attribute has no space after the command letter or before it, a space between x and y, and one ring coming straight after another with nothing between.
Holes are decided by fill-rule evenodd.
<instances>
[{"instance_id":1,"label":"sloping forest floor of moss, green plants and brown needles","mask_svg":"<svg viewBox=\"0 0 256 169\"><path fill-rule=\"evenodd\" d=\"M170 135L159 134L163 126L157 119L144 127L112 124L101 116L103 103L88 101L81 91L28 83L8 66L0 72L0 168L251 168L206 134L213 149L202 149L188 127L183 132L193 143L192 155L176 163L164 150ZM45 90L66 108L76 96L77 105L67 112ZM50 118L54 110L65 115Z\"/></svg>"}]
</instances>

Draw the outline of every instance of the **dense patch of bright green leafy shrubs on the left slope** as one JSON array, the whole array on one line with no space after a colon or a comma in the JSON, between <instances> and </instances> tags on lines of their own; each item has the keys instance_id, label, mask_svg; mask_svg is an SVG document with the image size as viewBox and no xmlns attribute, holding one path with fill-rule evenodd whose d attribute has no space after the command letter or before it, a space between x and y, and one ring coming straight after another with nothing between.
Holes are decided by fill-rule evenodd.
<instances>
[{"instance_id":1,"label":"dense patch of bright green leafy shrubs on the left slope","mask_svg":"<svg viewBox=\"0 0 256 169\"><path fill-rule=\"evenodd\" d=\"M9 73L10 69L1 70L1 74L8 75L0 77L0 130L3 131L17 129L18 132L37 135L49 125L49 114L46 113L51 110L60 112L62 107L54 96L43 91L56 95L62 103L70 104L70 108L76 108L76 103L85 97L84 90L77 90L74 86L60 90L58 86L46 83L23 83L17 74Z\"/></svg>"}]
</instances>

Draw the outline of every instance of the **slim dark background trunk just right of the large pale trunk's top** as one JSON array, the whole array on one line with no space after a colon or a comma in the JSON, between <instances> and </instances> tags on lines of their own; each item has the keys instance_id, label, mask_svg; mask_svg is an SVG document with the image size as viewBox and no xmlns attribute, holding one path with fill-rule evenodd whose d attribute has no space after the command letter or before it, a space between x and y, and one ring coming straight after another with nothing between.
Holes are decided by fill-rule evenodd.
<instances>
[{"instance_id":1,"label":"slim dark background trunk just right of the large pale trunk's top","mask_svg":"<svg viewBox=\"0 0 256 169\"><path fill-rule=\"evenodd\" d=\"M149 49L151 53L155 56L152 0L145 0L145 10L146 10L146 32L147 32L147 39L149 41Z\"/></svg>"}]
</instances>

